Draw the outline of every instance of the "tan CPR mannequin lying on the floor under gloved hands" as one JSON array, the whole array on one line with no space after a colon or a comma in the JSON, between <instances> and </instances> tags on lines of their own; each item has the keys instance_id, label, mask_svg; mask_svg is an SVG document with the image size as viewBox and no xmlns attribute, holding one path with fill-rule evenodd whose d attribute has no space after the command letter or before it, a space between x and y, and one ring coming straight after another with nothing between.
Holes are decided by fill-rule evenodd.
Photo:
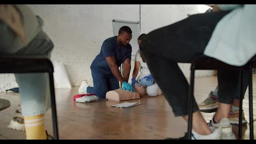
<instances>
[{"instance_id":1,"label":"tan CPR mannequin lying on the floor under gloved hands","mask_svg":"<svg viewBox=\"0 0 256 144\"><path fill-rule=\"evenodd\" d=\"M107 92L106 99L115 101L139 99L146 93L143 87L136 86L134 87L134 90L135 92L129 92L121 88L115 89Z\"/></svg>"}]
</instances>

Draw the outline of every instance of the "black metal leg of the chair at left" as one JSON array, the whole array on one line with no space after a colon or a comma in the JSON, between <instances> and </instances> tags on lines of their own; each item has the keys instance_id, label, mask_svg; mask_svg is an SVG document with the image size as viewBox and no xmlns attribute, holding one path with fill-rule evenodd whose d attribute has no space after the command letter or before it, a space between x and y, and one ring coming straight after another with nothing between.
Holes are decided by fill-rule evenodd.
<instances>
[{"instance_id":1,"label":"black metal leg of the chair at left","mask_svg":"<svg viewBox=\"0 0 256 144\"><path fill-rule=\"evenodd\" d=\"M50 81L51 115L53 117L54 139L55 140L59 140L59 131L58 131L58 125L57 125L57 111L56 111L56 102L55 102L55 89L54 89L53 73L49 73L49 81Z\"/></svg>"}]
</instances>

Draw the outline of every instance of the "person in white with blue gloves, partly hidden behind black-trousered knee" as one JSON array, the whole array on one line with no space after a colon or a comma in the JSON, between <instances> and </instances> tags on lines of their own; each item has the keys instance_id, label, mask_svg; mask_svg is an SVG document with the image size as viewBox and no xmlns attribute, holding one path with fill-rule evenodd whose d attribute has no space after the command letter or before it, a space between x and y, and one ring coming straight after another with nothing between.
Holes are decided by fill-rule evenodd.
<instances>
[{"instance_id":1,"label":"person in white with blue gloves, partly hidden behind black-trousered knee","mask_svg":"<svg viewBox=\"0 0 256 144\"><path fill-rule=\"evenodd\" d=\"M139 35L138 45L141 43L141 39L145 35L146 34L144 33ZM140 69L141 69L141 73L138 76L138 72ZM138 78L136 80L137 76ZM153 77L150 74L147 63L143 61L139 50L135 55L135 65L132 73L132 86L143 87L144 91L147 92L149 97L155 97L162 94L160 88L158 87L158 84L153 80Z\"/></svg>"}]
</instances>

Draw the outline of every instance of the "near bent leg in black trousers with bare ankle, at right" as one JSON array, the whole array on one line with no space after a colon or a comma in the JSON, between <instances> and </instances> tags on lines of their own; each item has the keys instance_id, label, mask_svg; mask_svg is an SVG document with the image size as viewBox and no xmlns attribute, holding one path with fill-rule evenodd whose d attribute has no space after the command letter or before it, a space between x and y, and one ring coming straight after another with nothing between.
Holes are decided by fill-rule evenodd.
<instances>
[{"instance_id":1,"label":"near bent leg in black trousers with bare ankle, at right","mask_svg":"<svg viewBox=\"0 0 256 144\"><path fill-rule=\"evenodd\" d=\"M203 54L215 26L224 15L226 13L192 15L173 25L156 29L142 39L142 55L175 116L183 116L187 120L189 89L187 79L177 63L190 63L196 56ZM199 115L194 99L193 105L193 119L197 119L193 121L193 130L199 135L211 136L212 131Z\"/></svg>"}]
</instances>

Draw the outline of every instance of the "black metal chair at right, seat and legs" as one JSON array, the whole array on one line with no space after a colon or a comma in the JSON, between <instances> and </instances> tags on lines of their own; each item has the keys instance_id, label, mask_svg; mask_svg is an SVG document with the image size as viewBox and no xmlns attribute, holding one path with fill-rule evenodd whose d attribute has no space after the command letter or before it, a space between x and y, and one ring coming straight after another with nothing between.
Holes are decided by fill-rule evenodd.
<instances>
[{"instance_id":1,"label":"black metal chair at right, seat and legs","mask_svg":"<svg viewBox=\"0 0 256 144\"><path fill-rule=\"evenodd\" d=\"M188 109L188 139L191 139L191 133L192 133L192 116L193 116L193 98L194 98L194 76L195 76L195 70L240 70L240 81L243 81L243 70L249 70L249 127L250 127L250 139L254 139L254 131L253 131L253 93L252 93L252 68L256 67L256 56L251 58L247 64L236 67L233 65L226 64L222 61L219 61L218 59L207 57L205 55L197 56L193 59L193 62L191 62L190 67L190 87L189 87L189 109ZM242 137L242 89L243 89L243 83L240 84L241 86L241 92L240 92L240 122L238 125L238 137Z\"/></svg>"}]
</instances>

